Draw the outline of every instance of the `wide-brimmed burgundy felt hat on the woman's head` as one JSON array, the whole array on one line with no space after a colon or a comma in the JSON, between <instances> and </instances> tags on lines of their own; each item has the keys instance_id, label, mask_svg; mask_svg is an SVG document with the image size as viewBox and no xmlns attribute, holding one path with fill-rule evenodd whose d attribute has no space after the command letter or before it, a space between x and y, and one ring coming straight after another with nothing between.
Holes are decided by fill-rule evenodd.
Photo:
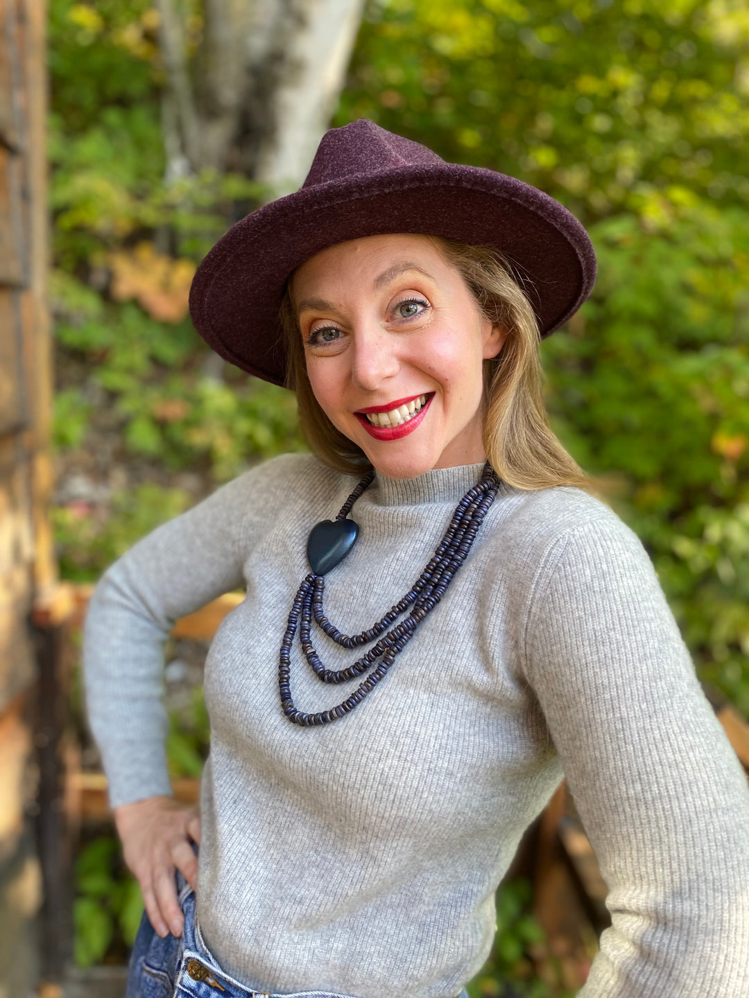
<instances>
[{"instance_id":1,"label":"wide-brimmed burgundy felt hat on the woman's head","mask_svg":"<svg viewBox=\"0 0 749 998\"><path fill-rule=\"evenodd\" d=\"M587 233L548 195L493 170L445 163L362 119L323 136L301 190L242 219L206 255L190 290L195 327L226 360L283 384L279 307L290 273L337 243L389 233L500 250L541 337L567 321L595 280Z\"/></svg>"}]
</instances>

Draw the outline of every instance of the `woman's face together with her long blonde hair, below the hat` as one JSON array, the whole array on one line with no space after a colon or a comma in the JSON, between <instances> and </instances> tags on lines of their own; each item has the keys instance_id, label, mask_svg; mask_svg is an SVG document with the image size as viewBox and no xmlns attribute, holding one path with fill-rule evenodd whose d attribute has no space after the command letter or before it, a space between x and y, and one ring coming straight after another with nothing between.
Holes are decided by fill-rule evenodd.
<instances>
[{"instance_id":1,"label":"woman's face together with her long blonde hair, below the hat","mask_svg":"<svg viewBox=\"0 0 749 998\"><path fill-rule=\"evenodd\" d=\"M377 272L393 255L401 261ZM417 281L409 283L413 275ZM312 296L311 288L320 281L337 290L338 302ZM355 314L362 320L358 334L352 327ZM281 316L288 384L297 391L309 441L331 467L357 474L368 460L378 466L377 456L388 461L393 477L413 477L418 469L479 461L485 455L499 476L518 488L588 487L549 427L538 322L498 250L405 235L340 244L292 274ZM333 366L320 363L339 354L343 356ZM353 378L357 385L348 384ZM343 380L337 384L337 379ZM442 383L438 391L436 379ZM423 403L416 406L414 401L414 409L423 411L421 406L436 395L439 433L434 412L428 441L421 433L410 447L394 453L380 448L375 455L350 418L358 416L351 408L356 400L347 412L340 411L352 393L373 395L367 401L375 404L360 405L359 413L388 415L387 421L381 416L358 420L369 436L381 441L401 439L421 422L395 414L398 406L424 395Z\"/></svg>"}]
</instances>

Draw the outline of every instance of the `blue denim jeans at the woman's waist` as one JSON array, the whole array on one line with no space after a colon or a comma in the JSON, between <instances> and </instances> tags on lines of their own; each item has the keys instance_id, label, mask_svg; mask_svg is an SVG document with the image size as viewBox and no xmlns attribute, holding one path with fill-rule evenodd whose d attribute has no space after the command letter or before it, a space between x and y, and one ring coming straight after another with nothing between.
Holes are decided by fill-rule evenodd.
<instances>
[{"instance_id":1,"label":"blue denim jeans at the woman's waist","mask_svg":"<svg viewBox=\"0 0 749 998\"><path fill-rule=\"evenodd\" d=\"M162 939L144 912L130 957L125 998L350 998L328 991L268 995L226 974L203 941L195 917L195 891L177 871L177 891L185 915L181 936ZM457 998L467 998L463 990Z\"/></svg>"}]
</instances>

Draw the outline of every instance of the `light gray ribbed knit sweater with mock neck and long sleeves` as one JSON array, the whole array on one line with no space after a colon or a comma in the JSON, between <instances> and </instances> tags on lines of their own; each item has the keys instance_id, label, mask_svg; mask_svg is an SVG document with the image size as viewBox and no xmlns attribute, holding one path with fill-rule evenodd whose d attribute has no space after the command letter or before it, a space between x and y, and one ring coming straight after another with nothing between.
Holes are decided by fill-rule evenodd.
<instances>
[{"instance_id":1,"label":"light gray ribbed knit sweater with mock neck and long sleeves","mask_svg":"<svg viewBox=\"0 0 749 998\"><path fill-rule=\"evenodd\" d=\"M326 613L371 627L411 587L480 465L357 502ZM287 455L219 489L105 574L86 691L113 804L170 791L160 702L176 618L247 598L206 665L198 917L225 970L269 992L450 998L479 969L494 890L562 774L609 887L580 998L747 998L749 791L637 537L568 487L502 485L467 561L346 718L281 712L278 656L311 527L354 480ZM318 632L333 669L356 655ZM328 686L295 648L304 711Z\"/></svg>"}]
</instances>

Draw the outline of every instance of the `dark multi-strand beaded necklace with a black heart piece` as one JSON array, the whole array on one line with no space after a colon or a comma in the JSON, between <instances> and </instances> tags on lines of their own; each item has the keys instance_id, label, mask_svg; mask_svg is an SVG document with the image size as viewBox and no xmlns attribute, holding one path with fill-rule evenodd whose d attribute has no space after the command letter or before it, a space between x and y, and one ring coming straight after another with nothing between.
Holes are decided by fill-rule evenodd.
<instances>
[{"instance_id":1,"label":"dark multi-strand beaded necklace with a black heart piece","mask_svg":"<svg viewBox=\"0 0 749 998\"><path fill-rule=\"evenodd\" d=\"M413 588L409 589L401 600L390 607L373 627L361 634L350 636L342 634L334 627L323 611L324 576L335 568L354 547L359 536L359 526L353 520L348 519L349 513L357 499L372 485L374 479L375 471L373 470L362 479L346 500L336 520L323 520L310 533L307 557L312 572L305 577L294 598L279 658L281 707L290 721L306 728L328 725L338 718L345 717L372 693L377 683L386 675L398 653L413 637L418 625L444 596L455 572L465 561L478 528L481 526L499 488L496 472L487 461L478 483L466 492L457 504L444 536L437 545L431 560L413 584ZM407 617L387 630L409 607L411 609ZM361 648L374 641L376 644L348 669L338 671L326 669L312 642L313 619L321 630L342 648ZM380 660L359 688L342 704L331 708L330 711L306 714L297 709L292 699L291 651L298 627L305 657L315 674L324 683L346 683L356 679L367 672L371 666L375 666L377 659Z\"/></svg>"}]
</instances>

